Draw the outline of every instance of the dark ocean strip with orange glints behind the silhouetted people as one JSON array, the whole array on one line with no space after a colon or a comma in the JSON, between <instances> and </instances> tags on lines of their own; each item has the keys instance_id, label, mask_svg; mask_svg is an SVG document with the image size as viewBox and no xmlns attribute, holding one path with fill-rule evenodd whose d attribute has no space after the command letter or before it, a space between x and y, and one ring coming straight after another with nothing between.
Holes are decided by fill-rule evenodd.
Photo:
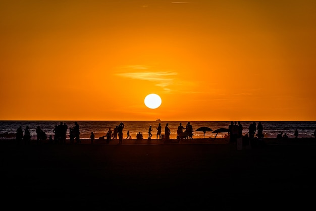
<instances>
[{"instance_id":1,"label":"dark ocean strip with orange glints behind the silhouetted people","mask_svg":"<svg viewBox=\"0 0 316 211\"><path fill-rule=\"evenodd\" d=\"M60 122L66 123L68 128L75 126L75 121L0 121L0 138L2 139L13 139L15 138L16 130L19 126L22 126L23 132L25 127L29 126L30 133L32 135L31 139L36 139L36 127L40 128L46 132L47 136L52 135L54 137L53 130L55 125L59 125ZM156 138L156 127L159 123L162 126L162 134L164 134L166 123L169 124L171 131L170 138L175 139L177 137L177 128L179 123L182 126L186 126L188 122L193 127L193 138L203 138L203 132L195 131L199 127L209 127L213 131L219 128L228 128L230 125L229 121L76 121L80 126L80 138L89 139L91 132L95 134L95 138L106 135L109 127L113 130L115 126L119 125L121 122L124 123L125 127L123 130L123 137L127 137L127 131L129 130L132 139L136 139L136 134L141 132L143 137L146 139L148 137L148 128L152 126L152 139ZM241 121L243 126L243 135L248 133L248 127L253 121ZM259 121L256 121L258 125ZM314 137L313 133L316 129L316 122L314 121L261 121L264 127L264 135L268 138L275 138L280 132L286 133L290 138L294 137L295 129L298 130L298 137ZM69 135L69 129L67 130L67 135ZM205 138L215 137L216 133L206 132ZM223 137L225 134L218 134L217 138ZM67 136L69 138L69 136Z\"/></svg>"}]
</instances>

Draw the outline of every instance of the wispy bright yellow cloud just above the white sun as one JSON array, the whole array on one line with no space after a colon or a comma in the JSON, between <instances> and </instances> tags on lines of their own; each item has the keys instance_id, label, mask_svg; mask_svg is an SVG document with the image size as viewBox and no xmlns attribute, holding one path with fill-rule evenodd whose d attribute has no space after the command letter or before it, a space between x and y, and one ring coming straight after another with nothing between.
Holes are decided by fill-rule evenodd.
<instances>
[{"instance_id":1,"label":"wispy bright yellow cloud just above the white sun","mask_svg":"<svg viewBox=\"0 0 316 211\"><path fill-rule=\"evenodd\" d=\"M173 76L178 75L178 73L171 71L150 71L152 68L146 65L128 65L120 69L122 72L116 73L116 75L125 78L151 81L155 83L155 86L162 87L167 93L171 92L171 89L167 88L167 86L173 84Z\"/></svg>"}]
</instances>

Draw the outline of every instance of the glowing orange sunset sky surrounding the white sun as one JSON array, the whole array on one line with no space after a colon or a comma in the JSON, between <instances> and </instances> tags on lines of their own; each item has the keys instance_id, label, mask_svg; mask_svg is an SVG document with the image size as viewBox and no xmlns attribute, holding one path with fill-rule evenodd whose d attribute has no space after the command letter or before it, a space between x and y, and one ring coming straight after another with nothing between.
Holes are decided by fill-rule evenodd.
<instances>
[{"instance_id":1,"label":"glowing orange sunset sky surrounding the white sun","mask_svg":"<svg viewBox=\"0 0 316 211\"><path fill-rule=\"evenodd\" d=\"M0 28L0 120L316 121L315 1L2 0Z\"/></svg>"}]
</instances>

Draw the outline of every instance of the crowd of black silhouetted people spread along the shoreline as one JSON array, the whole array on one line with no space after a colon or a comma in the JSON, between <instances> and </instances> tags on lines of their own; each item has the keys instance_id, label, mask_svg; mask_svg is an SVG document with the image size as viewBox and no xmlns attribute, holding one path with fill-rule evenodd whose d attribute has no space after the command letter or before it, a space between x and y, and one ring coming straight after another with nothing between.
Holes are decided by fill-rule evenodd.
<instances>
[{"instance_id":1,"label":"crowd of black silhouetted people spread along the shoreline","mask_svg":"<svg viewBox=\"0 0 316 211\"><path fill-rule=\"evenodd\" d=\"M16 143L17 145L20 145L22 140L24 141L24 145L30 145L31 142L31 134L29 130L29 126L25 127L25 131L23 134L22 127L20 126L16 130ZM122 144L123 141L123 129L124 129L124 123L120 123L119 125L115 126L114 131L112 131L111 127L109 127L109 130L106 132L106 135L99 137L98 140L105 140L106 143L110 143L111 139L117 140L117 136L119 136L119 145ZM59 143L59 144L65 144L67 140L67 130L68 126L66 123L60 122L59 125L55 125L52 132L54 133L54 139L52 138L52 135L49 135L49 143ZM171 131L169 129L169 123L166 123L165 126L165 134L162 134L162 126L161 123L156 127L156 139L163 139L163 140L170 140L170 134ZM152 126L150 125L148 128L148 140L151 140L152 134ZM316 138L316 130L314 131L314 137ZM248 133L243 135L243 126L240 122L230 122L230 125L228 126L228 136L229 141L231 143L237 143L238 138L242 138L243 144L244 143L259 143L259 141L262 141L265 137L264 134L264 127L261 124L261 122L258 122L256 124L255 122L252 122L248 127ZM296 129L294 132L295 138L299 136L298 130ZM193 128L190 122L186 124L186 127L182 126L182 123L179 124L177 128L177 139L193 139ZM277 136L277 140L286 140L288 138L288 135L286 133L283 134L281 131ZM43 140L47 139L46 133L40 128L40 126L36 127L36 141L37 144L41 144ZM95 134L91 132L90 134L90 141L91 144L95 140ZM127 131L127 137L126 139L131 139L131 136L129 134L129 130ZM143 140L143 135L141 132L138 132L136 134L137 140ZM81 143L80 140L80 126L77 122L74 122L74 126L69 128L69 140L70 143Z\"/></svg>"}]
</instances>

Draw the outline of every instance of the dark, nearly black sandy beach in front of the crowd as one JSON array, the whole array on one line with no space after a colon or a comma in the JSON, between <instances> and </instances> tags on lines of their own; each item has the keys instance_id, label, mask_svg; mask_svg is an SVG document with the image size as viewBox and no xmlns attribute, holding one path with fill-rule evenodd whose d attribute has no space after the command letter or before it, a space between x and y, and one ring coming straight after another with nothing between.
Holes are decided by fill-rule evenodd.
<instances>
[{"instance_id":1,"label":"dark, nearly black sandy beach in front of the crowd","mask_svg":"<svg viewBox=\"0 0 316 211\"><path fill-rule=\"evenodd\" d=\"M314 206L316 140L21 146L0 140L10 209L229 210Z\"/></svg>"}]
</instances>

